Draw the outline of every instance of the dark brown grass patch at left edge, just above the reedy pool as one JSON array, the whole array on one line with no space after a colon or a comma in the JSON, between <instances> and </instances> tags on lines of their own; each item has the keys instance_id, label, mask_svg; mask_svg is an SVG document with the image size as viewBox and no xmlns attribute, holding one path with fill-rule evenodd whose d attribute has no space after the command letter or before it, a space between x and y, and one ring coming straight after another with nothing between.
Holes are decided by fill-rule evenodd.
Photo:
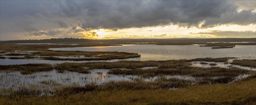
<instances>
[{"instance_id":1,"label":"dark brown grass patch at left edge, just above the reedy pool","mask_svg":"<svg viewBox=\"0 0 256 105\"><path fill-rule=\"evenodd\" d=\"M51 71L53 66L50 64L22 64L22 65L0 65L0 70L20 71L21 74L34 72Z\"/></svg>"}]
</instances>

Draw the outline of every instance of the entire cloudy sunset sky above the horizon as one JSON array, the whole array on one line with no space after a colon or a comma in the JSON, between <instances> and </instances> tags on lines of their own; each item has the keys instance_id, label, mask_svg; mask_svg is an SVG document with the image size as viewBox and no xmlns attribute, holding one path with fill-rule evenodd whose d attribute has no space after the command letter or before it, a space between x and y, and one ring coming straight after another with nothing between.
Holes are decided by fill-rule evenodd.
<instances>
[{"instance_id":1,"label":"entire cloudy sunset sky above the horizon","mask_svg":"<svg viewBox=\"0 0 256 105\"><path fill-rule=\"evenodd\" d=\"M0 40L256 38L256 0L0 0Z\"/></svg>"}]
</instances>

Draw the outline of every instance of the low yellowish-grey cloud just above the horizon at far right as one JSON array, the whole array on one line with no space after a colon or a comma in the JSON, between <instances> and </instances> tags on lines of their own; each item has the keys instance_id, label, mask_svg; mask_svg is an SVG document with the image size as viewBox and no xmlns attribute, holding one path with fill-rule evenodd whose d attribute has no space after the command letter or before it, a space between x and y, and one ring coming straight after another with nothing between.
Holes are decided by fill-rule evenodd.
<instances>
[{"instance_id":1,"label":"low yellowish-grey cloud just above the horizon at far right","mask_svg":"<svg viewBox=\"0 0 256 105\"><path fill-rule=\"evenodd\" d=\"M210 34L217 37L256 38L256 31L205 31L191 34Z\"/></svg>"}]
</instances>

